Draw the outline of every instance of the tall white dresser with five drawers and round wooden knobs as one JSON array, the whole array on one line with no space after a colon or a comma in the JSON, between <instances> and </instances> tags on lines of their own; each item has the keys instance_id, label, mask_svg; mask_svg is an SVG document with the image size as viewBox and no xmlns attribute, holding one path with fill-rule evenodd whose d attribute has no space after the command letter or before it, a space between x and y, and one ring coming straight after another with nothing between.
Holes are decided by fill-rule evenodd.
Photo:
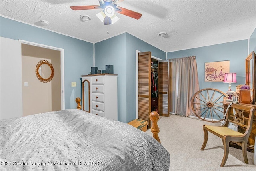
<instances>
[{"instance_id":1,"label":"tall white dresser with five drawers and round wooden knobs","mask_svg":"<svg viewBox=\"0 0 256 171\"><path fill-rule=\"evenodd\" d=\"M117 121L117 75L85 75L84 80L90 85L90 113Z\"/></svg>"}]
</instances>

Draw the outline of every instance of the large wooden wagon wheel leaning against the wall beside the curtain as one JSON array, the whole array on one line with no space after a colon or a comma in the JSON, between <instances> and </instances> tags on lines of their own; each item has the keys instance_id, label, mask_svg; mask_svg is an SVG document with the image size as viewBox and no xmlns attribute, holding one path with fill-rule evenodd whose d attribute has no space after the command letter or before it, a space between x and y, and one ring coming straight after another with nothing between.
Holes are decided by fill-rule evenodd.
<instances>
[{"instance_id":1,"label":"large wooden wagon wheel leaning against the wall beside the curtain","mask_svg":"<svg viewBox=\"0 0 256 171\"><path fill-rule=\"evenodd\" d=\"M197 91L191 100L194 114L208 122L220 122L224 118L222 108L223 97L227 94L214 88L206 88Z\"/></svg>"}]
</instances>

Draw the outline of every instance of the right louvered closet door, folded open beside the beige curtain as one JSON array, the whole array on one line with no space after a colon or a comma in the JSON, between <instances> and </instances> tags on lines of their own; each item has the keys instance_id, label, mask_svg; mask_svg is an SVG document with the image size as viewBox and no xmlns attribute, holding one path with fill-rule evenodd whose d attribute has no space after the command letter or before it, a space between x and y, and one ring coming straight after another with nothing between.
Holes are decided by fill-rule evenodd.
<instances>
[{"instance_id":1,"label":"right louvered closet door, folded open beside the beige curtain","mask_svg":"<svg viewBox=\"0 0 256 171\"><path fill-rule=\"evenodd\" d=\"M169 61L158 61L158 112L169 116Z\"/></svg>"}]
</instances>

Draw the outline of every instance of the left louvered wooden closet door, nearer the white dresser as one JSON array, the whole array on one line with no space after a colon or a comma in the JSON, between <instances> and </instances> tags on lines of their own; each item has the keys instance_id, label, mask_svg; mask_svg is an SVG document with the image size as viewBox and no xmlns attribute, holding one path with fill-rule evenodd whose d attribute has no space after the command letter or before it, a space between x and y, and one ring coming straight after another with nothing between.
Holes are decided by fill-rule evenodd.
<instances>
[{"instance_id":1,"label":"left louvered wooden closet door, nearer the white dresser","mask_svg":"<svg viewBox=\"0 0 256 171\"><path fill-rule=\"evenodd\" d=\"M138 118L148 121L151 111L151 52L141 52L138 56Z\"/></svg>"}]
</instances>

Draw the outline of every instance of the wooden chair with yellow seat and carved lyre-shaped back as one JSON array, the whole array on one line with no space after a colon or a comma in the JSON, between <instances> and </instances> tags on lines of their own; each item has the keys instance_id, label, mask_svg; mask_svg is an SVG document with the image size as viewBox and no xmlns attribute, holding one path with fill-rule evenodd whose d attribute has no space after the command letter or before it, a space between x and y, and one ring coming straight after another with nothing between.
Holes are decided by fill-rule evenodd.
<instances>
[{"instance_id":1,"label":"wooden chair with yellow seat and carved lyre-shaped back","mask_svg":"<svg viewBox=\"0 0 256 171\"><path fill-rule=\"evenodd\" d=\"M235 109L235 113L233 112ZM249 105L240 105L232 103L226 111L225 123L222 126L211 126L203 125L204 130L204 143L201 150L204 150L207 140L208 131L222 138L224 145L224 156L220 167L224 167L229 153L229 142L232 141L242 147L244 162L248 163L247 159L247 142L252 130L252 121L255 113L255 107ZM239 127L244 127L244 133L240 133L228 128L229 123L234 123L239 125Z\"/></svg>"}]
</instances>

